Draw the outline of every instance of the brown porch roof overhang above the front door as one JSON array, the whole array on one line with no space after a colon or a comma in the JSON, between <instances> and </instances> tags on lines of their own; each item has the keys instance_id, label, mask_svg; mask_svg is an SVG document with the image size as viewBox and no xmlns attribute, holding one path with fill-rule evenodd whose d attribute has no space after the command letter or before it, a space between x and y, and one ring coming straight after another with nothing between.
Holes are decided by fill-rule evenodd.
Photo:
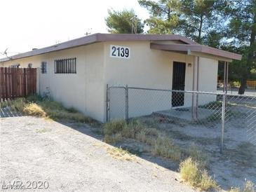
<instances>
[{"instance_id":1,"label":"brown porch roof overhang above the front door","mask_svg":"<svg viewBox=\"0 0 256 192\"><path fill-rule=\"evenodd\" d=\"M217 48L202 46L200 44L160 44L150 43L150 48L156 50L174 51L186 55L195 55L198 57L206 57L213 60L221 60L231 62L232 60L241 60L242 55L231 53Z\"/></svg>"}]
</instances>

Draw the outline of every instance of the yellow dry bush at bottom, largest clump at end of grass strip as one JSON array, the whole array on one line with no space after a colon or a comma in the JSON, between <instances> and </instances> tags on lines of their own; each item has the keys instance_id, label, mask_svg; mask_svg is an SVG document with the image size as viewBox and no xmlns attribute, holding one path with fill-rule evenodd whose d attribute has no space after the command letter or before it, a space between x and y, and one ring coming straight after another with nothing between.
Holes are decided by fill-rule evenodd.
<instances>
[{"instance_id":1,"label":"yellow dry bush at bottom, largest clump at end of grass strip","mask_svg":"<svg viewBox=\"0 0 256 192\"><path fill-rule=\"evenodd\" d=\"M206 170L201 170L201 166L198 162L187 158L180 163L180 174L184 181L187 181L191 186L201 188L202 190L208 190L209 188L216 188L217 183L213 180Z\"/></svg>"}]
</instances>

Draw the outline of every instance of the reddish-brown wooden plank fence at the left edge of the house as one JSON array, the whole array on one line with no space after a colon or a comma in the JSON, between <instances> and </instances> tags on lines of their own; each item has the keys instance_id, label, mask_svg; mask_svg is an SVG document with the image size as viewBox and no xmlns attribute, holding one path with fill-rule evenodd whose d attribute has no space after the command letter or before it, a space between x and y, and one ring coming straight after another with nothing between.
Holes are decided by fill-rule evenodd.
<instances>
[{"instance_id":1,"label":"reddish-brown wooden plank fence at the left edge of the house","mask_svg":"<svg viewBox=\"0 0 256 192\"><path fill-rule=\"evenodd\" d=\"M35 68L0 67L0 102L36 93Z\"/></svg>"}]
</instances>

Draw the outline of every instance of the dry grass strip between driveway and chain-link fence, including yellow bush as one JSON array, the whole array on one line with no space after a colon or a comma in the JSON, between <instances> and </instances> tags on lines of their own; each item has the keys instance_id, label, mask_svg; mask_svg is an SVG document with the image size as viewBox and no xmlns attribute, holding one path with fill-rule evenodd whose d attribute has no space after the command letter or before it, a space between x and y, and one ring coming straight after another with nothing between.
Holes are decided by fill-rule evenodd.
<instances>
[{"instance_id":1,"label":"dry grass strip between driveway and chain-link fence, including yellow bush","mask_svg":"<svg viewBox=\"0 0 256 192\"><path fill-rule=\"evenodd\" d=\"M126 138L135 139L148 144L154 156L161 156L176 162L180 162L184 157L189 157L180 163L180 174L184 181L205 191L209 188L217 188L216 181L209 176L206 170L208 158L195 144L189 146L189 149L180 149L173 139L166 136L165 132L151 128L150 125L138 120L130 121L130 123L126 123L126 121L106 123L103 132L105 142L108 143L120 142L121 139ZM111 154L116 158L126 158L128 153L128 151L122 151L123 149L113 150Z\"/></svg>"}]
</instances>

